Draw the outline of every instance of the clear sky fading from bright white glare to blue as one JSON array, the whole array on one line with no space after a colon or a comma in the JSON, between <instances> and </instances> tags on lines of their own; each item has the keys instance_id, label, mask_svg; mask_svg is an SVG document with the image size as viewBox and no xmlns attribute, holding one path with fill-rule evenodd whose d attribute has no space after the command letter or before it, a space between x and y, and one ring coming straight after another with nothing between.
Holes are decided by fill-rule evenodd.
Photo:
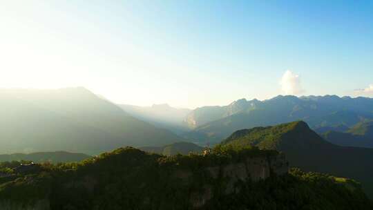
<instances>
[{"instance_id":1,"label":"clear sky fading from bright white glare to blue","mask_svg":"<svg viewBox=\"0 0 373 210\"><path fill-rule=\"evenodd\" d=\"M373 1L0 0L0 88L195 108L373 97Z\"/></svg>"}]
</instances>

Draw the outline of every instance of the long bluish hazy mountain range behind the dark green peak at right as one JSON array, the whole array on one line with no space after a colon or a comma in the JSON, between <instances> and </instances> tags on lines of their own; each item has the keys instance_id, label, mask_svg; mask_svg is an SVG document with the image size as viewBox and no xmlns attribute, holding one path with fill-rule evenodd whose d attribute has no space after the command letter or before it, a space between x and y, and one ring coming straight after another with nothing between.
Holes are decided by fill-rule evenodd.
<instances>
[{"instance_id":1,"label":"long bluish hazy mountain range behind the dark green peak at right","mask_svg":"<svg viewBox=\"0 0 373 210\"><path fill-rule=\"evenodd\" d=\"M218 143L243 128L303 120L312 128L325 131L330 127L348 129L370 119L373 119L371 98L279 95L262 102L240 99L228 106L197 108L187 116L187 124L194 128L184 137L200 144Z\"/></svg>"}]
</instances>

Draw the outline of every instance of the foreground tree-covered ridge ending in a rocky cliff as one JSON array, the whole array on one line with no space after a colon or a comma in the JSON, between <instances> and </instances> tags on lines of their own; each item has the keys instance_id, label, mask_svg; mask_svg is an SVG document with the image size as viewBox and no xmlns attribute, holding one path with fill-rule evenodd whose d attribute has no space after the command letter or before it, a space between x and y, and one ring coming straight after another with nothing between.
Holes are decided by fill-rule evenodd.
<instances>
[{"instance_id":1,"label":"foreground tree-covered ridge ending in a rocky cliff","mask_svg":"<svg viewBox=\"0 0 373 210\"><path fill-rule=\"evenodd\" d=\"M64 169L68 165L41 168L0 184L0 209L200 209L240 193L245 183L288 171L283 153L224 152L162 156L126 148L104 153L75 170Z\"/></svg>"}]
</instances>

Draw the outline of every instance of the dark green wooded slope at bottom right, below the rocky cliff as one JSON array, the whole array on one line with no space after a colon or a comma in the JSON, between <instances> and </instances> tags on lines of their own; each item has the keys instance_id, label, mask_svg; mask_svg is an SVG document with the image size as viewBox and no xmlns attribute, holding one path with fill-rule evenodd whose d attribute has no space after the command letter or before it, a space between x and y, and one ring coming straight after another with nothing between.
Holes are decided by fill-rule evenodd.
<instances>
[{"instance_id":1,"label":"dark green wooded slope at bottom right, below the rocky cliff","mask_svg":"<svg viewBox=\"0 0 373 210\"><path fill-rule=\"evenodd\" d=\"M288 175L242 183L236 195L211 200L205 209L372 209L353 180L291 169Z\"/></svg>"}]
</instances>

